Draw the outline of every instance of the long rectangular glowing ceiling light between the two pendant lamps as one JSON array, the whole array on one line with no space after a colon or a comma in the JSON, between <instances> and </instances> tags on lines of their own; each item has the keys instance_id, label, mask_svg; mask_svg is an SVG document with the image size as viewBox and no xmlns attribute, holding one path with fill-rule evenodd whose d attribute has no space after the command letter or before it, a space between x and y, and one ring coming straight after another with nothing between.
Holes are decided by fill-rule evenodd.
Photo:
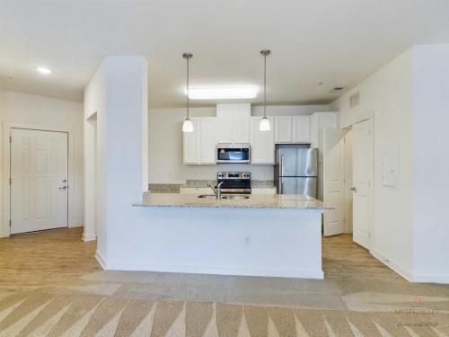
<instances>
[{"instance_id":1,"label":"long rectangular glowing ceiling light between the two pendant lamps","mask_svg":"<svg viewBox=\"0 0 449 337\"><path fill-rule=\"evenodd\" d=\"M190 100L238 100L255 98L258 89L254 85L234 87L189 88ZM187 93L186 93L187 94Z\"/></svg>"}]
</instances>

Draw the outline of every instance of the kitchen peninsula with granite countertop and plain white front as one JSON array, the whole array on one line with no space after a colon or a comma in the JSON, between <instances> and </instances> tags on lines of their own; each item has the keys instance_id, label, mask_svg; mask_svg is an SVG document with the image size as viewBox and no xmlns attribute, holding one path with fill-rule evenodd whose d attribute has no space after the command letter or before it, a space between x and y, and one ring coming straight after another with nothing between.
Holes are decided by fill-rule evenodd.
<instances>
[{"instance_id":1,"label":"kitchen peninsula with granite countertop and plain white front","mask_svg":"<svg viewBox=\"0 0 449 337\"><path fill-rule=\"evenodd\" d=\"M127 262L107 269L322 279L321 201L145 193Z\"/></svg>"}]
</instances>

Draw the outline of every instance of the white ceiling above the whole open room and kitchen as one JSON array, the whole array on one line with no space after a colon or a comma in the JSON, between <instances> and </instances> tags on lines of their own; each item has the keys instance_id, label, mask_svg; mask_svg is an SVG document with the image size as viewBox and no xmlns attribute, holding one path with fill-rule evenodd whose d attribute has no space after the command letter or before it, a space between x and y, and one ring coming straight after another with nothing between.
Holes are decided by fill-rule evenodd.
<instances>
[{"instance_id":1,"label":"white ceiling above the whole open room and kitchen","mask_svg":"<svg viewBox=\"0 0 449 337\"><path fill-rule=\"evenodd\" d=\"M183 106L182 52L192 86L260 85L271 49L268 102L327 103L412 44L442 42L447 0L0 0L0 88L81 101L102 58L138 54L150 106Z\"/></svg>"}]
</instances>

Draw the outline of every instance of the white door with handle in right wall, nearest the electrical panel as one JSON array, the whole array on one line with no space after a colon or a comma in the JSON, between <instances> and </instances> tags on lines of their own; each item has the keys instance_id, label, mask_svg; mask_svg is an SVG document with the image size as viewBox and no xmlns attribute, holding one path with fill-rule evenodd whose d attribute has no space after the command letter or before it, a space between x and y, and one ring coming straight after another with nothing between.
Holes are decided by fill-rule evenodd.
<instances>
[{"instance_id":1,"label":"white door with handle in right wall, nearest the electrical panel","mask_svg":"<svg viewBox=\"0 0 449 337\"><path fill-rule=\"evenodd\" d=\"M371 230L371 172L373 166L373 148L370 120L353 126L353 240L370 249Z\"/></svg>"}]
</instances>

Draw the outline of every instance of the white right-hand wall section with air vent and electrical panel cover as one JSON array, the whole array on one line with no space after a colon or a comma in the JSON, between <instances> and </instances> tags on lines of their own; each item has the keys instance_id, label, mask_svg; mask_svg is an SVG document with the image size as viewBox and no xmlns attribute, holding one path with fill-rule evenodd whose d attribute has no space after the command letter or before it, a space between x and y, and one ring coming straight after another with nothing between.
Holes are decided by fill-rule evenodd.
<instances>
[{"instance_id":1,"label":"white right-hand wall section with air vent and electrical panel cover","mask_svg":"<svg viewBox=\"0 0 449 337\"><path fill-rule=\"evenodd\" d=\"M341 128L374 115L373 253L390 260L406 275L412 273L412 52L407 50L374 75L343 94L330 106L340 112ZM360 105L349 108L349 96L360 93ZM399 152L399 186L381 184L383 151ZM395 268L396 268L395 267Z\"/></svg>"}]
</instances>

